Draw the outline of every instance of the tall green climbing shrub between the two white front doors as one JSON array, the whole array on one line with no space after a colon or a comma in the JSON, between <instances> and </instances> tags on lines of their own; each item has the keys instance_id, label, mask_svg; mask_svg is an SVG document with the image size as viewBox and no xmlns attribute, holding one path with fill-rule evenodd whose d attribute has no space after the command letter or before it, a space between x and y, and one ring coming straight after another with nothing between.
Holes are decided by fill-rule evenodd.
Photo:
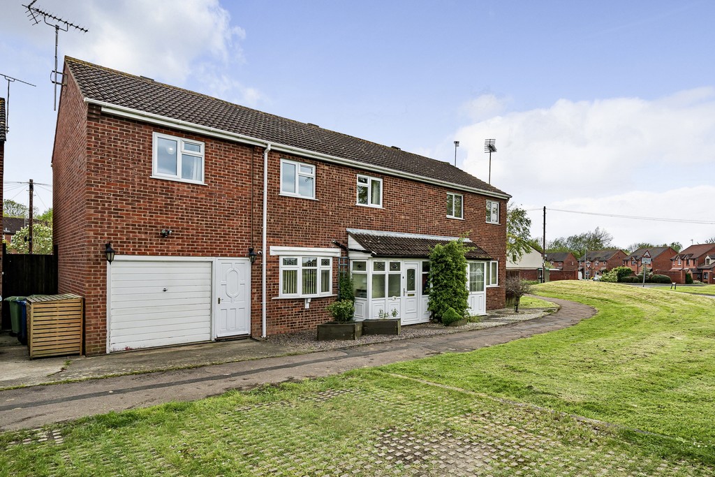
<instances>
[{"instance_id":1,"label":"tall green climbing shrub between the two white front doors","mask_svg":"<svg viewBox=\"0 0 715 477\"><path fill-rule=\"evenodd\" d=\"M437 244L430 253L428 310L440 321L450 308L460 316L465 316L469 308L465 257L468 250L460 238L446 245Z\"/></svg>"}]
</instances>

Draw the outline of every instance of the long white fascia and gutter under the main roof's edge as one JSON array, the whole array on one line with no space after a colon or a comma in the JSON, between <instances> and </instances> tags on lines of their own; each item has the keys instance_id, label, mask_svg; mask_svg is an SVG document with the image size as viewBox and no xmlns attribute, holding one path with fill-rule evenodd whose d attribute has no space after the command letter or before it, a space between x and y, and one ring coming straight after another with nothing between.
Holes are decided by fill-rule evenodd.
<instances>
[{"instance_id":1,"label":"long white fascia and gutter under the main roof's edge","mask_svg":"<svg viewBox=\"0 0 715 477\"><path fill-rule=\"evenodd\" d=\"M486 195L488 197L496 197L498 199L508 200L511 197L511 195L508 194L498 194L497 192L482 190L476 187L467 187L464 185L454 184L453 182L447 182L443 180L433 179L431 177L420 176L418 174L410 174L409 172L398 171L396 169L390 169L388 167L365 164L364 162L353 161L350 159L345 159L343 157L331 156L330 154L321 154L320 152L310 151L308 149L301 149L300 147L288 146L287 144L277 144L275 142L267 141L265 139L257 139L255 137L245 136L243 134L237 134L235 132L225 131L223 129L217 129L215 127L202 126L201 124L182 121L181 119L173 119L170 117L161 116L160 114L143 112L139 111L139 109L118 106L117 104L97 101L96 99L84 98L84 101L89 104L97 104L99 107L102 107L103 113L113 114L114 116L126 117L128 119L135 119L137 121L149 122L152 124L159 124L161 126L181 129L187 132L196 132L198 134L204 134L206 136L227 139L229 141L242 142L245 144L251 144L253 146L267 147L267 144L270 142L271 147L274 150L287 152L289 154L296 154L302 157L309 157L311 159L317 159L324 162L332 162L333 164L341 164L345 166L355 167L355 169L361 169L373 173L379 172L385 175L404 177L406 179L423 182L425 184L440 185L442 187L449 187L450 189L473 192L475 194Z\"/></svg>"}]
</instances>

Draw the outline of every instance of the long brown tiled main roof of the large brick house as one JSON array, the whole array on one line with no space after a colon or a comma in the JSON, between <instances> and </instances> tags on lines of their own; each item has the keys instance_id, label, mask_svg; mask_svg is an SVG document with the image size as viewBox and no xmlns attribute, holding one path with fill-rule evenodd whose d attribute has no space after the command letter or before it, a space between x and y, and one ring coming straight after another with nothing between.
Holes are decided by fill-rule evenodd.
<instances>
[{"instance_id":1,"label":"long brown tiled main roof of the large brick house","mask_svg":"<svg viewBox=\"0 0 715 477\"><path fill-rule=\"evenodd\" d=\"M347 159L364 164L366 168L383 167L396 172L415 174L429 180L448 182L458 187L468 187L509 197L506 192L448 162L358 139L313 124L275 116L78 59L66 57L65 63L79 85L80 91L89 100Z\"/></svg>"}]
</instances>

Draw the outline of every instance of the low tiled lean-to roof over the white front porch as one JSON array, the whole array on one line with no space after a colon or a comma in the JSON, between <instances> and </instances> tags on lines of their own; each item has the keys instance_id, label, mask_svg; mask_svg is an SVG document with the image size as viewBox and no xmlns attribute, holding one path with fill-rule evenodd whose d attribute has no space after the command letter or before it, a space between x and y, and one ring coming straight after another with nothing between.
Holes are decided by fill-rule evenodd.
<instances>
[{"instance_id":1,"label":"low tiled lean-to roof over the white front porch","mask_svg":"<svg viewBox=\"0 0 715 477\"><path fill-rule=\"evenodd\" d=\"M347 229L347 233L376 257L427 258L435 245L445 245L450 240L458 239L378 230ZM465 246L471 249L466 253L468 259L491 260L490 255L471 240L465 239Z\"/></svg>"}]
</instances>

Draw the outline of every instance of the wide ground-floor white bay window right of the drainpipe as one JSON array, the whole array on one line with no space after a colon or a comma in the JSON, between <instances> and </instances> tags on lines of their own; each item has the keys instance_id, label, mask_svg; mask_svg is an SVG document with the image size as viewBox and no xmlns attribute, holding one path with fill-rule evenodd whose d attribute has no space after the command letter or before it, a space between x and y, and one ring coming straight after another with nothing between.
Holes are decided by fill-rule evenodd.
<instances>
[{"instance_id":1,"label":"wide ground-floor white bay window right of the drainpipe","mask_svg":"<svg viewBox=\"0 0 715 477\"><path fill-rule=\"evenodd\" d=\"M280 257L280 297L317 297L331 294L331 257Z\"/></svg>"}]
</instances>

